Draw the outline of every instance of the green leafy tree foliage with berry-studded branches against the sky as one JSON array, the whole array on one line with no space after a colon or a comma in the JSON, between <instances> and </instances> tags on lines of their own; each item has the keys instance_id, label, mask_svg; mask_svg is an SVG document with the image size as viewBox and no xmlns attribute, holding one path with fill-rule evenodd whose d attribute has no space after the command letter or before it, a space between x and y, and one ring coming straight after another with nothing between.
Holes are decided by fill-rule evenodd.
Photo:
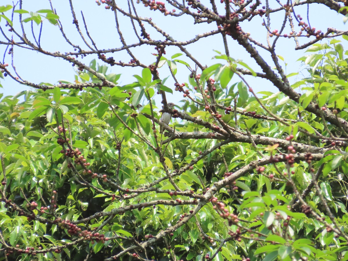
<instances>
[{"instance_id":1,"label":"green leafy tree foliage with berry-studded branches against the sky","mask_svg":"<svg viewBox=\"0 0 348 261\"><path fill-rule=\"evenodd\" d=\"M226 19L217 15L221 7L213 0L211 8L195 0L141 1L142 8L166 16L214 21L216 31L197 38L216 33L231 38L263 72L230 57L225 41L224 53L214 57L221 63L207 67L185 49L189 41L175 41L151 19L115 1L96 2L137 23L130 24L135 32L136 26L141 29L140 44L156 46L151 65L132 55L136 46L126 44L117 16L119 49L128 50L129 63L106 58L118 50L97 49L89 34L89 51L68 38L73 52L45 51L39 38L25 36L24 25L40 26L47 19L64 36L53 7L37 13L22 9L22 1L19 7L0 7L18 38L8 37L1 25L7 40L0 45L11 46L6 51L12 58L15 48L26 47L77 69L74 82L34 84L22 79L15 66L11 71L5 61L0 64L4 76L39 89L0 101L0 260L348 260L346 33L321 33L302 23L293 9L304 2L261 8L259 1L221 1L231 18ZM135 11L135 3L128 3ZM178 11L168 11L169 5ZM346 13L339 3L323 5ZM7 15L10 10L13 16ZM285 14L279 32L267 26L275 12ZM16 14L23 33L11 20ZM263 15L266 45L242 30L242 22ZM298 26L293 19L299 19ZM293 31L313 38L301 47L308 47L308 55L299 59L307 66L301 74L306 76L292 85L288 77L297 73L286 75L275 53L279 37L296 38L297 44L301 37L282 32L286 21ZM150 38L142 22L166 40ZM270 53L275 68L251 43ZM180 53L167 55L167 45ZM84 64L78 59L88 54L98 54L99 60ZM183 54L187 58L178 58ZM121 85L120 74L108 73L109 65L142 71ZM162 66L169 68L174 85L166 85ZM185 82L177 80L182 75ZM256 94L248 79L258 77L279 92ZM2 83L6 88L7 81ZM184 99L172 109L167 96L173 91ZM163 111L172 114L169 126L159 120L157 97Z\"/></svg>"}]
</instances>

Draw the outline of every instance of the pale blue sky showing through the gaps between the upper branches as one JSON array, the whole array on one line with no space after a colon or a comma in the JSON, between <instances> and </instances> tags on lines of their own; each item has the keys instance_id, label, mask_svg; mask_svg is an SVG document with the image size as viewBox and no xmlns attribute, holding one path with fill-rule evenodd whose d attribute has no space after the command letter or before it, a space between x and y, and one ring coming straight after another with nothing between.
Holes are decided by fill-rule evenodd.
<instances>
[{"instance_id":1,"label":"pale blue sky showing through the gaps between the upper branches","mask_svg":"<svg viewBox=\"0 0 348 261\"><path fill-rule=\"evenodd\" d=\"M86 18L86 23L88 26L88 30L96 42L96 45L100 49L106 48L117 48L120 47L119 36L116 31L115 17L111 10L106 10L103 5L97 6L94 0L73 0L73 5L75 8L75 13L79 20L79 25L83 33L85 33L84 25L81 18L81 10ZM209 1L201 0L202 3L209 5ZM216 1L220 4L220 1ZM57 14L61 18L61 22L63 24L63 28L67 37L74 42L74 44L79 44L82 48L87 49L86 45L83 44L81 38L79 37L76 27L72 24L72 15L70 11L69 1L62 0L52 0L54 8L56 8ZM1 0L1 5L12 5L12 1L10 0ZM127 10L127 1L121 1L121 6L123 5ZM140 16L152 17L153 21L162 29L164 29L167 33L169 33L174 39L178 41L186 41L195 37L196 34L204 33L210 30L216 29L216 24L193 24L192 17L188 17L186 15L181 17L170 17L164 16L159 11L150 11L148 8L145 8L142 4L137 5L138 14ZM37 11L39 9L49 9L49 1L47 0L23 0L23 9L28 11ZM316 29L321 29L322 31L326 31L327 27L336 27L338 29L345 30L347 29L347 25L343 24L343 16L338 15L335 11L332 11L328 8L323 8L321 5L310 5L309 10L309 19L310 24ZM307 9L305 6L296 7L296 13L301 14L304 21L307 20ZM10 16L10 11L7 11L5 15ZM271 16L271 29L279 29L284 13L282 16L272 15ZM27 17L27 14L23 15L23 18ZM130 27L129 18L119 15L119 21L121 30L124 34L124 37L127 41L127 44L131 44L136 42L135 34L132 28ZM242 28L246 32L251 33L251 37L255 40L258 40L262 43L266 43L266 29L262 27L262 19L264 17L255 17L252 22L243 22ZM1 19L0 22L1 27L6 32L6 34L11 37L11 33L8 32L8 27L5 27L5 19ZM14 26L18 28L18 14L14 16ZM34 24L34 33L38 36L39 26ZM149 27L148 27L149 28ZM32 38L30 23L25 24L25 29L28 37ZM151 37L156 39L156 35L158 33L154 30L149 30ZM290 29L287 28L285 30L286 33L290 32ZM163 39L163 38L159 38ZM313 38L311 38L313 39ZM310 40L311 40L310 39ZM3 35L0 35L0 41L4 40ZM307 42L307 38L301 38L300 42L303 44ZM327 40L323 40L327 41ZM342 40L342 44L347 49L347 41ZM44 21L44 26L42 29L41 35L41 47L51 52L60 51L62 52L70 52L73 51L71 46L69 46L64 39L57 26L54 26L48 21ZM249 66L251 66L256 72L261 72L258 68L258 65L253 61L253 59L242 49L242 47L238 46L235 41L229 40L230 47L230 56L235 59L243 60ZM304 67L301 67L300 62L296 62L296 60L305 55L304 50L295 51L295 44L293 39L281 38L276 47L276 52L278 55L284 57L285 62L287 63L286 71L290 72L299 72ZM218 60L212 60L212 57L216 55L214 50L219 50L224 52L222 45L221 35L214 35L212 37L200 39L193 45L187 47L190 53L192 53L197 60L206 65L211 65L213 63L221 62ZM151 64L155 61L155 56L151 53L156 53L156 51L151 46L142 46L140 48L132 49L136 57L144 64ZM180 50L176 47L168 47L166 48L166 57L169 58L171 55L175 53L179 53ZM259 49L261 54L266 55L266 61L271 61L269 54L265 51ZM0 45L0 54L5 53L5 46ZM1 55L2 56L2 55ZM116 61L121 60L123 62L128 62L130 57L126 52L114 53L113 57ZM82 62L89 64L90 60L96 58L96 56L87 56ZM181 56L182 60L189 62L188 57ZM2 58L1 58L2 60ZM5 63L11 63L10 55L5 54ZM100 63L100 61L99 61ZM22 48L15 48L14 50L14 65L20 76L23 79L34 83L40 82L49 82L51 84L56 84L60 80L74 80L74 68L72 68L71 64L54 57L48 57L42 55L37 52L33 52L31 50L25 50ZM283 64L284 65L284 64ZM284 67L284 66L283 66ZM135 78L133 78L133 74L140 74L141 68L120 68L118 66L113 66L110 68L108 72L113 73L122 73L120 78L120 85L128 84L133 82ZM166 68L161 68L159 70L160 77L163 79L169 75L169 71ZM189 71L185 68L185 66L180 66L178 68L177 79L179 82L188 82ZM297 77L297 78L296 78ZM292 77L290 80L293 82L296 79L300 79L300 76ZM253 77L247 77L247 80L252 85L253 89L256 92L260 92L262 90L270 90L272 92L276 92L276 88L270 85L270 82L255 79ZM233 82L239 81L237 78L232 78ZM5 95L14 95L17 92L28 89L29 87L21 86L17 84L15 81L10 79L9 77L5 79L1 79L1 84L3 89L0 92L5 93ZM168 87L173 87L174 81L169 81L166 83ZM169 98L174 102L182 99L182 93L175 92L174 97Z\"/></svg>"}]
</instances>

